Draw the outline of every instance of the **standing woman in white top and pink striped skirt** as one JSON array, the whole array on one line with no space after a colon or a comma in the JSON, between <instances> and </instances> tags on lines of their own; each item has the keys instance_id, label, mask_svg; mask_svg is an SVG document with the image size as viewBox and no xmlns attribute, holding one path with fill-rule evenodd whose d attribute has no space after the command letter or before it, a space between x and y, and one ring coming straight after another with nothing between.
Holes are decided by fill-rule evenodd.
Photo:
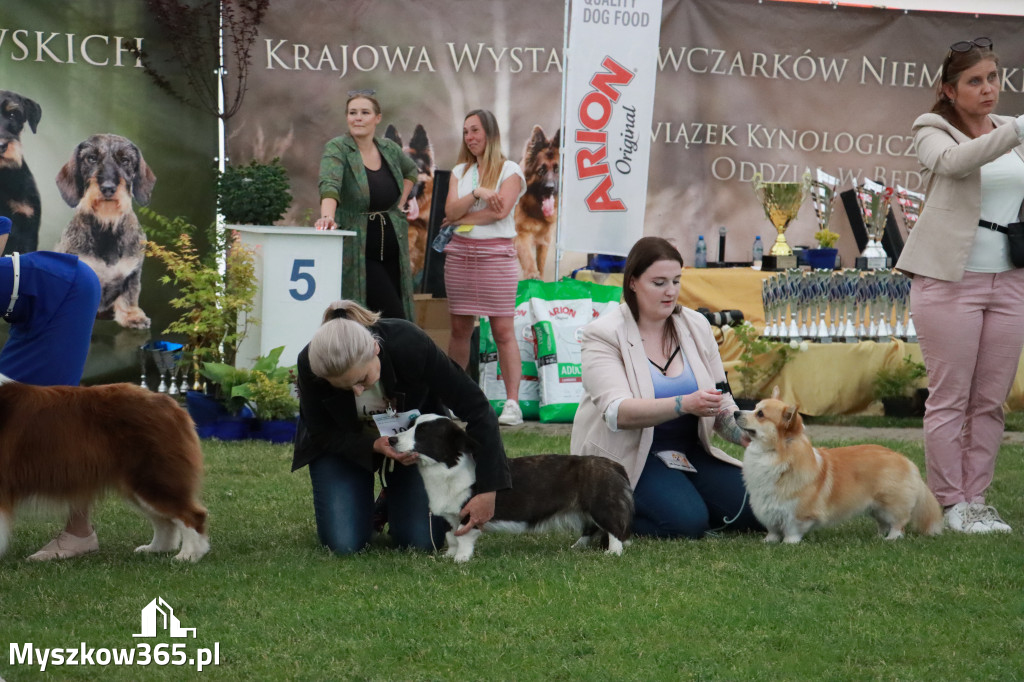
<instances>
[{"instance_id":1,"label":"standing woman in white top and pink striped skirt","mask_svg":"<svg viewBox=\"0 0 1024 682\"><path fill-rule=\"evenodd\" d=\"M462 148L444 203L444 224L457 226L444 248L444 288L452 315L449 356L463 369L469 365L476 316L487 315L508 398L498 421L507 426L522 423L522 367L512 325L519 261L512 239L515 205L525 191L522 170L502 154L495 115L470 112L463 122Z\"/></svg>"}]
</instances>

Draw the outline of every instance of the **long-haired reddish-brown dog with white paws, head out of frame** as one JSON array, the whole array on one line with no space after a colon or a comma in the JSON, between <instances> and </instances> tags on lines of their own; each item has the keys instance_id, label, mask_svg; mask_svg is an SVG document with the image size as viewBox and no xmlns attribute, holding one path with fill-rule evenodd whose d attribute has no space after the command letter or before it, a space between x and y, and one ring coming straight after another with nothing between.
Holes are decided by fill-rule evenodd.
<instances>
[{"instance_id":1,"label":"long-haired reddish-brown dog with white paws, head out of frame","mask_svg":"<svg viewBox=\"0 0 1024 682\"><path fill-rule=\"evenodd\" d=\"M203 451L174 398L132 384L30 386L0 375L0 556L20 503L85 507L116 491L153 523L136 552L199 561Z\"/></svg>"}]
</instances>

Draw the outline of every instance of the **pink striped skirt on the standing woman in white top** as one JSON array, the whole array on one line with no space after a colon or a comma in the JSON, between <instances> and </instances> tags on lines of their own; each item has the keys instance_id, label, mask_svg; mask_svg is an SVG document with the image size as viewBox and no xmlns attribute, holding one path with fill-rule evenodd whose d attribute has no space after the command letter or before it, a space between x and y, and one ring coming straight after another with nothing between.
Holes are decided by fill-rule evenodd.
<instances>
[{"instance_id":1,"label":"pink striped skirt on the standing woman in white top","mask_svg":"<svg viewBox=\"0 0 1024 682\"><path fill-rule=\"evenodd\" d=\"M509 239L455 235L444 248L444 289L454 315L511 317L519 286L519 259Z\"/></svg>"}]
</instances>

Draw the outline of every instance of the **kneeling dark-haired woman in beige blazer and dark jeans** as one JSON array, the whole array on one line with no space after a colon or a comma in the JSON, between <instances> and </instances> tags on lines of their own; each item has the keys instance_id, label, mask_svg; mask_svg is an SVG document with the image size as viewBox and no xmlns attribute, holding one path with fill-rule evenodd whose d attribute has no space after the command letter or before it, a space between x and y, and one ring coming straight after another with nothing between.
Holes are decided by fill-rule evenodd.
<instances>
[{"instance_id":1,"label":"kneeling dark-haired woman in beige blazer and dark jeans","mask_svg":"<svg viewBox=\"0 0 1024 682\"><path fill-rule=\"evenodd\" d=\"M761 530L740 463L711 443L713 430L749 440L732 396L720 389L725 370L711 325L676 303L682 266L666 240L639 240L626 259L626 302L583 328L584 395L571 452L626 468L636 535Z\"/></svg>"}]
</instances>

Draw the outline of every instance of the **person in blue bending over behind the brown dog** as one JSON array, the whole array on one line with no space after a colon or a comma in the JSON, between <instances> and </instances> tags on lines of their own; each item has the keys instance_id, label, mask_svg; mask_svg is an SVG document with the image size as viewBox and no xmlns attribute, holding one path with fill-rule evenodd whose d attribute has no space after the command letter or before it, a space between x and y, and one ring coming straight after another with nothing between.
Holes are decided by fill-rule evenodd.
<instances>
[{"instance_id":1,"label":"person in blue bending over behind the brown dog","mask_svg":"<svg viewBox=\"0 0 1024 682\"><path fill-rule=\"evenodd\" d=\"M10 218L0 216L0 251L10 228ZM10 325L0 374L24 384L78 386L99 291L96 273L77 256L34 251L0 258L0 305ZM98 549L88 507L73 508L60 535L29 559L67 559Z\"/></svg>"}]
</instances>

